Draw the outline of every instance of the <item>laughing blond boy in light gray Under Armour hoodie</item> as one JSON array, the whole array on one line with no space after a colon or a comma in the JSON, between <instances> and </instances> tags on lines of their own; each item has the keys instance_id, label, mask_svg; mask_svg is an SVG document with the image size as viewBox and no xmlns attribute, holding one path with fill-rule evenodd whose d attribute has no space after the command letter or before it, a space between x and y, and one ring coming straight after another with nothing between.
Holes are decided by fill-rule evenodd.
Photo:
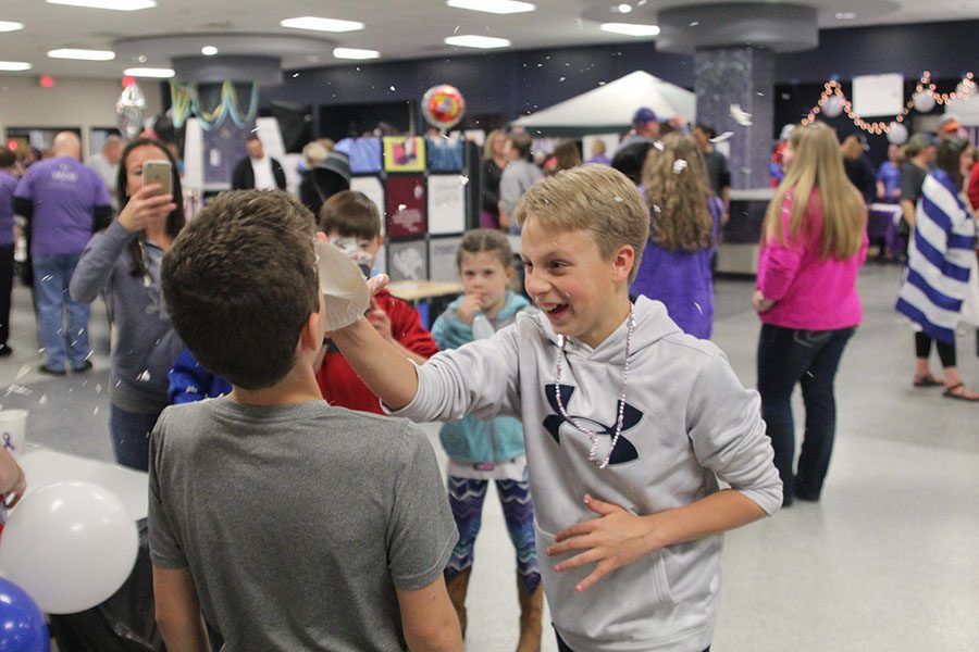
<instances>
[{"instance_id":1,"label":"laughing blond boy in light gray Under Armour hoodie","mask_svg":"<svg viewBox=\"0 0 979 652\"><path fill-rule=\"evenodd\" d=\"M522 418L560 650L707 649L719 535L782 500L758 394L661 303L630 302L649 215L624 175L562 172L513 217L540 313L420 367L364 319L333 337L394 414Z\"/></svg>"}]
</instances>

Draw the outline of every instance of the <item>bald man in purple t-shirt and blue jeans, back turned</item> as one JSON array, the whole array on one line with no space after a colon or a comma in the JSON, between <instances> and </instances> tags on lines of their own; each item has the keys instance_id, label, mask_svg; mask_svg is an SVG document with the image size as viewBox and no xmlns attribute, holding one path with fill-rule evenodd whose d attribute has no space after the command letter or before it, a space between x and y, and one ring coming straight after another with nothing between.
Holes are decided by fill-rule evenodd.
<instances>
[{"instance_id":1,"label":"bald man in purple t-shirt and blue jeans, back turned","mask_svg":"<svg viewBox=\"0 0 979 652\"><path fill-rule=\"evenodd\" d=\"M54 137L52 158L32 165L14 190L14 210L30 224L30 254L38 331L47 361L40 372L62 376L91 368L85 303L69 294L72 274L94 230L109 224L106 185L79 161L82 141L72 131ZM67 329L64 310L67 310Z\"/></svg>"}]
</instances>

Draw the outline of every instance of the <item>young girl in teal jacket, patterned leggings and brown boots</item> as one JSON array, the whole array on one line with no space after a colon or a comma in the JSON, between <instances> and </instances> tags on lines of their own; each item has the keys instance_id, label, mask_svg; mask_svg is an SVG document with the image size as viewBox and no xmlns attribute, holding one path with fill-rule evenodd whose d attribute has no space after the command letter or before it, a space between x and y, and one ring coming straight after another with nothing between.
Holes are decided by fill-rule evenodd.
<instances>
[{"instance_id":1,"label":"young girl in teal jacket, patterned leggings and brown boots","mask_svg":"<svg viewBox=\"0 0 979 652\"><path fill-rule=\"evenodd\" d=\"M506 236L475 229L459 243L456 264L463 294L435 321L432 337L442 350L458 349L491 337L529 308L523 297L507 289L513 279L513 254ZM481 419L463 416L439 432L449 456L449 505L459 542L445 569L453 605L466 632L466 592L472 572L473 546L480 531L483 501L490 480L496 482L510 540L517 549L517 593L520 599L518 652L541 649L543 590L534 548L534 510L526 476L523 427L512 416Z\"/></svg>"}]
</instances>

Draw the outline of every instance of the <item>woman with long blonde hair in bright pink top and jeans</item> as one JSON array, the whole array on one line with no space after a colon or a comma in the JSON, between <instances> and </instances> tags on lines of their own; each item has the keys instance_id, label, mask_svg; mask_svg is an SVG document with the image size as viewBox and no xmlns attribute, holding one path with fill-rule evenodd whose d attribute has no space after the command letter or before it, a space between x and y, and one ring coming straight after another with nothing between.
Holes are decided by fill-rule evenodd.
<instances>
[{"instance_id":1,"label":"woman with long blonde hair in bright pink top and jeans","mask_svg":"<svg viewBox=\"0 0 979 652\"><path fill-rule=\"evenodd\" d=\"M867 258L867 209L822 123L792 133L785 178L768 205L753 304L761 319L758 392L783 504L818 501L835 434L833 379L863 318L856 277ZM805 439L793 471L792 391L802 385Z\"/></svg>"}]
</instances>

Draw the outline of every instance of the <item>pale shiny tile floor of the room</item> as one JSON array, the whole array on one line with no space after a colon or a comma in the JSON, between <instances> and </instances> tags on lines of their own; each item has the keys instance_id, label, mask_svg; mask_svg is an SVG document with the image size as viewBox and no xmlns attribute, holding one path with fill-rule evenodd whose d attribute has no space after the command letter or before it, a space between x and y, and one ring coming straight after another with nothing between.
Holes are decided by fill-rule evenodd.
<instances>
[{"instance_id":1,"label":"pale shiny tile floor of the room","mask_svg":"<svg viewBox=\"0 0 979 652\"><path fill-rule=\"evenodd\" d=\"M912 334L893 311L899 281L894 266L862 273L866 318L838 377L837 449L822 502L728 535L714 650L921 652L979 641L979 404L912 387ZM714 338L748 386L758 334L751 290L746 280L717 284ZM22 287L12 325L15 353L0 361L0 403L30 411L29 440L110 460L104 311L92 311L95 371L65 378L36 372L41 358ZM975 337L963 331L959 367L979 387ZM437 427L424 428L438 450ZM470 652L516 642L512 557L491 497L470 588ZM544 650L556 650L549 634Z\"/></svg>"}]
</instances>

